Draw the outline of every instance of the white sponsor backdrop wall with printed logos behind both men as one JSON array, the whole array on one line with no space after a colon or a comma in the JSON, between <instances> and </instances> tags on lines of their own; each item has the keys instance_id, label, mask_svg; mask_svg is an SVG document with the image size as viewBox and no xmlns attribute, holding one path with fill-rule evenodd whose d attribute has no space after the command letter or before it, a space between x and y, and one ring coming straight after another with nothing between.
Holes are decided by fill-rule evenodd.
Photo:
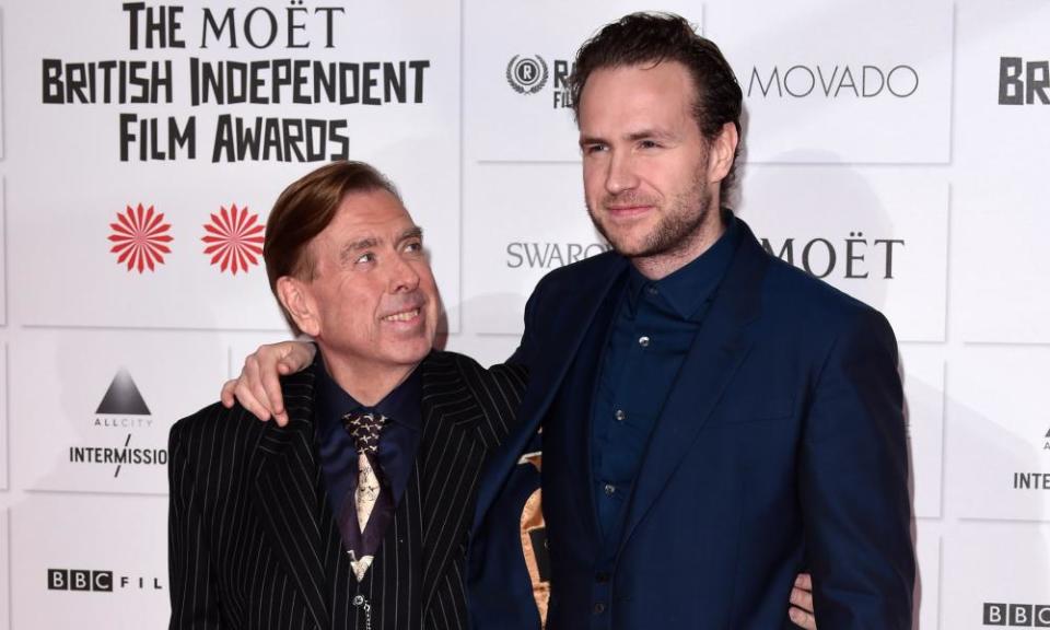
<instances>
[{"instance_id":1,"label":"white sponsor backdrop wall with printed logos behind both men","mask_svg":"<svg viewBox=\"0 0 1050 630\"><path fill-rule=\"evenodd\" d=\"M917 625L1050 626L1050 3L3 0L0 630L165 626L168 428L287 336L253 238L320 163L399 183L447 347L506 357L536 281L606 247L563 80L639 9L734 65L739 215L897 331ZM248 102L195 103L192 68L250 62Z\"/></svg>"}]
</instances>

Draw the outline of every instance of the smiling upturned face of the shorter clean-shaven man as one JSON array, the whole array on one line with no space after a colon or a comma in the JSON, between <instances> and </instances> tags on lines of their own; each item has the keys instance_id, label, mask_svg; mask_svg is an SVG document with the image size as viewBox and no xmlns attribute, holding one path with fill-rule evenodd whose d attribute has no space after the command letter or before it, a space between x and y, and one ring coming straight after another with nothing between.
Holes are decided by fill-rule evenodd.
<instances>
[{"instance_id":1,"label":"smiling upturned face of the shorter clean-shaven man","mask_svg":"<svg viewBox=\"0 0 1050 630\"><path fill-rule=\"evenodd\" d=\"M422 234L386 190L348 195L308 246L314 336L326 361L361 371L415 366L431 350L440 302Z\"/></svg>"}]
</instances>

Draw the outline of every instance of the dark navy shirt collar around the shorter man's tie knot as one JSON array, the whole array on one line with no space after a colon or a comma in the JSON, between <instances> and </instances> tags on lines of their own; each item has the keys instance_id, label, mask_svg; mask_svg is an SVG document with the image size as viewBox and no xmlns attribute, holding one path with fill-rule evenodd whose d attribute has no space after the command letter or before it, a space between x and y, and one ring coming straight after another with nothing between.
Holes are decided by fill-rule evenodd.
<instances>
[{"instance_id":1,"label":"dark navy shirt collar around the shorter man's tie knot","mask_svg":"<svg viewBox=\"0 0 1050 630\"><path fill-rule=\"evenodd\" d=\"M316 378L315 417L318 434L322 438L329 435L336 429L342 430L342 417L355 412L375 411L386 416L394 423L419 430L422 419L420 400L423 384L418 365L408 378L372 407L362 405L336 383L325 369L320 352L314 359L313 370Z\"/></svg>"}]
</instances>

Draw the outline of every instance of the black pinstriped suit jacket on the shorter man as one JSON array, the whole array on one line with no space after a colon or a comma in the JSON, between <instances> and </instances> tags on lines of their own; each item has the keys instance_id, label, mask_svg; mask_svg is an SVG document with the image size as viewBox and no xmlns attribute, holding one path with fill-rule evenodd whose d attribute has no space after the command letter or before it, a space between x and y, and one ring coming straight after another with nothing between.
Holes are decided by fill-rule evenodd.
<instances>
[{"instance_id":1,"label":"black pinstriped suit jacket on the shorter man","mask_svg":"<svg viewBox=\"0 0 1050 630\"><path fill-rule=\"evenodd\" d=\"M486 455L514 423L525 374L432 352L422 370L420 628L466 629L463 558ZM290 422L212 405L175 423L168 480L172 629L322 629L347 592L328 593L313 372L283 380ZM384 609L407 603L387 597Z\"/></svg>"}]
</instances>

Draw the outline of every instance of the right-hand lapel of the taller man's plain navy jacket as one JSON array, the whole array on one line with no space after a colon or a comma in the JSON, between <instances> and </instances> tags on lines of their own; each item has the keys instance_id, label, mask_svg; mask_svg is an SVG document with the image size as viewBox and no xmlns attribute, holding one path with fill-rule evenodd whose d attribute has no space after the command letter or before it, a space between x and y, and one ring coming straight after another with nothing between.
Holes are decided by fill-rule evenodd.
<instances>
[{"instance_id":1,"label":"right-hand lapel of the taller man's plain navy jacket","mask_svg":"<svg viewBox=\"0 0 1050 630\"><path fill-rule=\"evenodd\" d=\"M621 548L692 447L750 351L749 325L759 315L759 283L769 260L747 225L737 221L737 253L653 429L628 504Z\"/></svg>"}]
</instances>

